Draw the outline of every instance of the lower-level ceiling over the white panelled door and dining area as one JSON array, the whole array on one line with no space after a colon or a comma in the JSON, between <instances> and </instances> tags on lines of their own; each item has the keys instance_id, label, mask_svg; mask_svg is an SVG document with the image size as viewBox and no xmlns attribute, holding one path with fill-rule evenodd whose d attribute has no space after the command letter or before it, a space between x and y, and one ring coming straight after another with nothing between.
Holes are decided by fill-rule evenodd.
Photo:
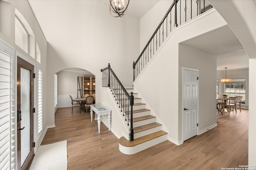
<instances>
[{"instance_id":1,"label":"lower-level ceiling over the white panelled door and dining area","mask_svg":"<svg viewBox=\"0 0 256 170\"><path fill-rule=\"evenodd\" d=\"M217 57L217 70L249 68L249 57L228 25L182 42Z\"/></svg>"}]
</instances>

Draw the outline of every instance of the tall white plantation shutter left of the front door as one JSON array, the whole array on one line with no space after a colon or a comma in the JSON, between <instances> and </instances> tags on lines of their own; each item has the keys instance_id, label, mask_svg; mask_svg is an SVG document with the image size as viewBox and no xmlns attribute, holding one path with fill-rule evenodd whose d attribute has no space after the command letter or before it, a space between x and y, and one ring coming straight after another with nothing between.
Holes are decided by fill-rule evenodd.
<instances>
[{"instance_id":1,"label":"tall white plantation shutter left of the front door","mask_svg":"<svg viewBox=\"0 0 256 170\"><path fill-rule=\"evenodd\" d=\"M14 50L0 43L0 169L6 170L15 169L16 61Z\"/></svg>"}]
</instances>

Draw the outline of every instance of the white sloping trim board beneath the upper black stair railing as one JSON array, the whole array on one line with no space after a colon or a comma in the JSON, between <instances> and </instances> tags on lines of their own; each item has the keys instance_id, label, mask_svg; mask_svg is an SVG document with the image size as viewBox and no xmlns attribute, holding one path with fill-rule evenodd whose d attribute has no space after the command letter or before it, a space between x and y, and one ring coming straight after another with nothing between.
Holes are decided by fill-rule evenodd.
<instances>
[{"instance_id":1,"label":"white sloping trim board beneath the upper black stair railing","mask_svg":"<svg viewBox=\"0 0 256 170\"><path fill-rule=\"evenodd\" d=\"M132 84L135 84L136 81L138 80L138 78L142 75L142 73L144 72L144 70L146 70L146 68L150 65L150 63L153 61L153 59L156 57L156 55L159 53L159 51L164 47L164 44L168 41L168 39L172 36L172 34L174 34L174 32L178 31L179 29L182 29L183 27L185 27L186 25L189 25L197 20L200 20L201 18L204 18L206 16L208 16L209 14L215 12L216 10L214 8L204 12L203 14L200 14L199 16L196 16L195 18L192 18L191 20L182 23L181 25L179 25L178 27L172 29L172 31L170 32L170 34L168 35L168 37L164 40L164 43L162 43L162 45L160 46L160 48L156 51L156 53L153 55L153 57L150 59L150 61L148 61L148 64L143 68L143 70L140 72L140 74L136 77L136 79L133 81Z\"/></svg>"}]
</instances>

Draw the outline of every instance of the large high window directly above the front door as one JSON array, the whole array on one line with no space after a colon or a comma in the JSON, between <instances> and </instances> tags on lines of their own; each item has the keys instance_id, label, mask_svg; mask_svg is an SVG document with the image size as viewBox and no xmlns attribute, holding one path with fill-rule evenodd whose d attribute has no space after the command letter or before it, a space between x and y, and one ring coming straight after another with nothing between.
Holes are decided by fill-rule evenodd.
<instances>
[{"instance_id":1,"label":"large high window directly above the front door","mask_svg":"<svg viewBox=\"0 0 256 170\"><path fill-rule=\"evenodd\" d=\"M15 17L15 44L28 53L28 32L17 17Z\"/></svg>"}]
</instances>

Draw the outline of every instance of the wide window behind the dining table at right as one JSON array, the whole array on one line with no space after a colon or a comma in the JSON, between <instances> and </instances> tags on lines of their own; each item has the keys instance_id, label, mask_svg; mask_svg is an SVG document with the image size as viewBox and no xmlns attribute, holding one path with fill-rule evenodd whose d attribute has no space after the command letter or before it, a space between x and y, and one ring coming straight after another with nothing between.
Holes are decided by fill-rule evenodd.
<instances>
[{"instance_id":1,"label":"wide window behind the dining table at right","mask_svg":"<svg viewBox=\"0 0 256 170\"><path fill-rule=\"evenodd\" d=\"M225 83L225 94L230 97L243 96L242 100L245 100L245 78L232 79L231 83Z\"/></svg>"}]
</instances>

